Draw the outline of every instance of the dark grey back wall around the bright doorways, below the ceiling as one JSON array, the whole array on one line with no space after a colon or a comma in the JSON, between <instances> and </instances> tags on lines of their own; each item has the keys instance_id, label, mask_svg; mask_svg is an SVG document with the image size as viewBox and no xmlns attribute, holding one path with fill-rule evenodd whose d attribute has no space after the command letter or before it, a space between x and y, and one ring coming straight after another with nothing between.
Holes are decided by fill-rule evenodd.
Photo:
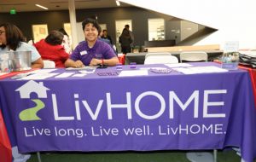
<instances>
[{"instance_id":1,"label":"dark grey back wall around the bright doorways, below the ceiling","mask_svg":"<svg viewBox=\"0 0 256 162\"><path fill-rule=\"evenodd\" d=\"M171 23L165 14L159 14L147 9L137 7L108 8L108 9L79 9L76 10L77 21L83 21L86 17L97 16L100 24L107 24L108 34L115 42L115 20L132 21L132 31L135 35L135 44L143 45L148 40L148 19L163 17L166 26ZM68 10L42 11L42 12L18 12L17 14L1 13L0 23L11 22L19 26L27 39L32 38L32 25L47 24L49 31L58 30L64 23L69 23ZM82 27L82 26L81 26ZM166 27L166 33L171 33L171 28ZM167 34L166 39L171 35Z\"/></svg>"}]
</instances>

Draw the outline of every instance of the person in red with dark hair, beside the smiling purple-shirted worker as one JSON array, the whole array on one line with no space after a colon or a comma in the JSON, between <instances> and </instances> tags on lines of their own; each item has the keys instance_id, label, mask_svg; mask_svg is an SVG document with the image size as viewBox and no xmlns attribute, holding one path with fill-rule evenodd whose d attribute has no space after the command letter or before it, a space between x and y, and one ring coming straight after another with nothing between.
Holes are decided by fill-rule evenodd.
<instances>
[{"instance_id":1,"label":"person in red with dark hair, beside the smiling purple-shirted worker","mask_svg":"<svg viewBox=\"0 0 256 162\"><path fill-rule=\"evenodd\" d=\"M63 38L64 35L61 32L51 31L45 39L34 43L43 60L54 61L57 68L65 67L64 63L69 57L61 45Z\"/></svg>"}]
</instances>

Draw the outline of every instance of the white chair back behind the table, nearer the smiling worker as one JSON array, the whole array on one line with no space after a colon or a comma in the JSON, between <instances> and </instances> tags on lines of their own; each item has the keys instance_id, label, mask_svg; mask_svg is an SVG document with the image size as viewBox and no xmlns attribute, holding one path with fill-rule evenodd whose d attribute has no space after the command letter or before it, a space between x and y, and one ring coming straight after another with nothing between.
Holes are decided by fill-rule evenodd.
<instances>
[{"instance_id":1,"label":"white chair back behind the table, nearer the smiling worker","mask_svg":"<svg viewBox=\"0 0 256 162\"><path fill-rule=\"evenodd\" d=\"M178 63L177 57L170 53L148 53L144 64L173 64Z\"/></svg>"}]
</instances>

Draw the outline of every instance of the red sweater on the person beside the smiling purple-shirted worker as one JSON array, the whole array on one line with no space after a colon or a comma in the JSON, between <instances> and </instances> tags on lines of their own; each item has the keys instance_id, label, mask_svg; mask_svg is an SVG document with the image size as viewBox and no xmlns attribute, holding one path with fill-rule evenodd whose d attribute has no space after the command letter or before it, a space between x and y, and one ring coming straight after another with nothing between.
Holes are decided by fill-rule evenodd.
<instances>
[{"instance_id":1,"label":"red sweater on the person beside the smiling purple-shirted worker","mask_svg":"<svg viewBox=\"0 0 256 162\"><path fill-rule=\"evenodd\" d=\"M55 61L55 67L57 68L65 67L64 63L69 55L65 52L62 45L50 45L42 39L34 43L34 46L38 49L43 60Z\"/></svg>"}]
</instances>

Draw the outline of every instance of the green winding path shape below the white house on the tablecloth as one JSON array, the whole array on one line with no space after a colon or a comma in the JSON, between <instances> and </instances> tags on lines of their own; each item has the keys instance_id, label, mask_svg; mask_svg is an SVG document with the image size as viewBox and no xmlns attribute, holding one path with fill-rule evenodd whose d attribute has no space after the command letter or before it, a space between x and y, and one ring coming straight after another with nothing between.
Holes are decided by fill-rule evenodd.
<instances>
[{"instance_id":1,"label":"green winding path shape below the white house on the tablecloth","mask_svg":"<svg viewBox=\"0 0 256 162\"><path fill-rule=\"evenodd\" d=\"M36 103L36 107L27 108L20 112L19 117L21 121L41 120L37 113L45 107L44 102L39 99L34 99L32 101Z\"/></svg>"}]
</instances>

